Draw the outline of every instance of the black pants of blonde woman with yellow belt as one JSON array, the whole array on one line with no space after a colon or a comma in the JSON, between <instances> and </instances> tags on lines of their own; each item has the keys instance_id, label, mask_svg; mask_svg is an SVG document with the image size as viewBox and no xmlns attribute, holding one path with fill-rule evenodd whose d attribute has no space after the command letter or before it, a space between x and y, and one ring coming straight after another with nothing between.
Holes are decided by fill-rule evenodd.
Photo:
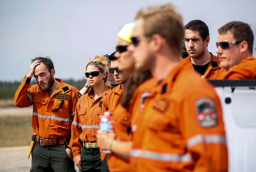
<instances>
[{"instance_id":1,"label":"black pants of blonde woman with yellow belt","mask_svg":"<svg viewBox=\"0 0 256 172\"><path fill-rule=\"evenodd\" d=\"M81 161L83 165L80 172L100 172L102 164L100 148L86 148L83 146Z\"/></svg>"}]
</instances>

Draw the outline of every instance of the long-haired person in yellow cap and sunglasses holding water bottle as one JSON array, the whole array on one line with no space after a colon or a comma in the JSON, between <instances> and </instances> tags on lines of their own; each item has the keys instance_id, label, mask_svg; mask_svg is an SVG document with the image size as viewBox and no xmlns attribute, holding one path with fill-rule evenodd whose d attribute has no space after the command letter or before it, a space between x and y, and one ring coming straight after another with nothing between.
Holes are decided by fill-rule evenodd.
<instances>
[{"instance_id":1,"label":"long-haired person in yellow cap and sunglasses holding water bottle","mask_svg":"<svg viewBox=\"0 0 256 172\"><path fill-rule=\"evenodd\" d=\"M149 71L134 73L134 60L132 54L127 51L131 43L132 28L133 24L124 25L117 35L115 58L118 62L118 69L132 74L132 78L126 84L126 89L119 99L120 104L112 114L115 138L102 131L98 131L97 135L98 144L102 150L112 152L107 157L108 168L111 172L129 171L129 154L133 131L135 131L132 131L132 128L136 127L137 117L143 109L143 104L140 106L140 96L144 93L145 98L148 90L155 83L154 79L150 79L152 76Z\"/></svg>"}]
</instances>

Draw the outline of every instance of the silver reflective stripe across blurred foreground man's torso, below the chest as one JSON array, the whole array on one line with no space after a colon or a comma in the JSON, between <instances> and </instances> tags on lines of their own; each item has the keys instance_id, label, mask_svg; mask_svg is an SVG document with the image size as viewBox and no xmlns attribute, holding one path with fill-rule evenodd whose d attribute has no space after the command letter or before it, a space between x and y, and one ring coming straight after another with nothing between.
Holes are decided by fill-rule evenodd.
<instances>
[{"instance_id":1,"label":"silver reflective stripe across blurred foreground man's torso, below the chest","mask_svg":"<svg viewBox=\"0 0 256 172\"><path fill-rule=\"evenodd\" d=\"M177 154L177 153L158 153L151 151L144 151L140 149L133 149L131 151L132 157L146 158L157 161L166 162L190 162L192 158L189 154Z\"/></svg>"}]
</instances>

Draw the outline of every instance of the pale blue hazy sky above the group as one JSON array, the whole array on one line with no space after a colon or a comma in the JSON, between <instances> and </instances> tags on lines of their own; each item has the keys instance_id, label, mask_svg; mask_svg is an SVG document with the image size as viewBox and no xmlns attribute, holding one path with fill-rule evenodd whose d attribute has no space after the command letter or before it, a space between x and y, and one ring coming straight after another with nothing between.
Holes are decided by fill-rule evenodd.
<instances>
[{"instance_id":1,"label":"pale blue hazy sky above the group","mask_svg":"<svg viewBox=\"0 0 256 172\"><path fill-rule=\"evenodd\" d=\"M184 25L194 19L208 25L213 54L218 28L234 20L251 25L256 48L255 0L0 0L0 80L21 80L39 55L52 58L56 78L84 78L82 66L115 51L118 30L136 11L166 2L178 8Z\"/></svg>"}]
</instances>

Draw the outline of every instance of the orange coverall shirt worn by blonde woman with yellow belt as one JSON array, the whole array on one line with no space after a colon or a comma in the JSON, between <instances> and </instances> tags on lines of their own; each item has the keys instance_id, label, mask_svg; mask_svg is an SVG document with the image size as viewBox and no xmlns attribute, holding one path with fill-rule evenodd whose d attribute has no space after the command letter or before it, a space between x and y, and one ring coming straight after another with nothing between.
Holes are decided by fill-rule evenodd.
<instances>
[{"instance_id":1,"label":"orange coverall shirt worn by blonde woman with yellow belt","mask_svg":"<svg viewBox=\"0 0 256 172\"><path fill-rule=\"evenodd\" d=\"M93 89L89 93L84 94L76 104L74 121L72 123L72 152L73 160L81 155L82 145L79 141L95 143L96 135L100 128L100 109L102 106L102 98L110 92L110 88L106 88L100 97L94 100L92 95ZM101 160L104 160L106 153L101 153Z\"/></svg>"}]
</instances>

